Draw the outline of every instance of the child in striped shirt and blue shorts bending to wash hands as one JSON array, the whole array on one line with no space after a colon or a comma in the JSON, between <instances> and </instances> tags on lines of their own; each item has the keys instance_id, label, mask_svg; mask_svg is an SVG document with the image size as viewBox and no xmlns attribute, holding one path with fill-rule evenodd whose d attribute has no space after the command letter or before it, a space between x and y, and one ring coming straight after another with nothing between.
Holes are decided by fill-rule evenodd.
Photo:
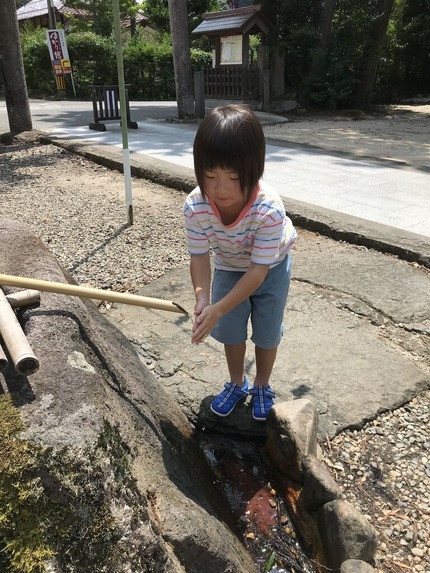
<instances>
[{"instance_id":1,"label":"child in striped shirt and blue shorts bending to wash hands","mask_svg":"<svg viewBox=\"0 0 430 573\"><path fill-rule=\"evenodd\" d=\"M192 342L211 334L224 344L230 381L212 401L212 412L228 416L251 395L253 418L264 422L275 398L269 378L282 337L288 253L297 234L279 195L260 181L266 144L248 107L213 109L197 130L193 152L198 187L184 205L196 297ZM249 318L256 361L252 388L244 374Z\"/></svg>"}]
</instances>

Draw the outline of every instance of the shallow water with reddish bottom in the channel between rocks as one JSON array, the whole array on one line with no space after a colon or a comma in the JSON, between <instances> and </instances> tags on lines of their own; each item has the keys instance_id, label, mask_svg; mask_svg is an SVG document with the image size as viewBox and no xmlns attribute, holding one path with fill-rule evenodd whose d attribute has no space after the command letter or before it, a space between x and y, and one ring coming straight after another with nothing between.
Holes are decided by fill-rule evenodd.
<instances>
[{"instance_id":1,"label":"shallow water with reddish bottom in the channel between rocks","mask_svg":"<svg viewBox=\"0 0 430 573\"><path fill-rule=\"evenodd\" d=\"M286 500L269 478L264 440L202 432L201 448L231 509L238 535L261 573L315 573L318 566L299 539Z\"/></svg>"}]
</instances>

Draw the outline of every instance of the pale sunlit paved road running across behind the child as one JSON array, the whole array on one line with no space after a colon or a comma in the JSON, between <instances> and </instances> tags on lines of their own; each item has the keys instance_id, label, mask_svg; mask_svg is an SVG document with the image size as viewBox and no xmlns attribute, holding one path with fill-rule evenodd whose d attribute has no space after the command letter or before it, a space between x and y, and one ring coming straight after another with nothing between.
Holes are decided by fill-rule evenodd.
<instances>
[{"instance_id":1,"label":"pale sunlit paved road running across behind the child","mask_svg":"<svg viewBox=\"0 0 430 573\"><path fill-rule=\"evenodd\" d=\"M122 148L118 122L106 132L88 129L91 102L31 100L33 127L72 141ZM139 154L192 169L196 124L169 123L177 117L175 102L133 102L129 148ZM285 121L259 114L262 123ZM4 102L0 102L0 131L7 131ZM333 213L357 217L430 238L430 173L319 152L285 142L269 141L265 179L288 200Z\"/></svg>"}]
</instances>

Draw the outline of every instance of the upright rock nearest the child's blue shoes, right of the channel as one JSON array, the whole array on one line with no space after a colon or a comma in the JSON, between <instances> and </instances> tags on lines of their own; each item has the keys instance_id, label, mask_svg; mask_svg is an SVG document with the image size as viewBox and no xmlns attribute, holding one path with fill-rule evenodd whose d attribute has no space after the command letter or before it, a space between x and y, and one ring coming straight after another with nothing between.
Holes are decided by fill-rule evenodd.
<instances>
[{"instance_id":1,"label":"upright rock nearest the child's blue shoes, right of the channel","mask_svg":"<svg viewBox=\"0 0 430 573\"><path fill-rule=\"evenodd\" d=\"M307 399L275 404L267 417L267 451L282 475L303 483L302 460L317 454L318 413Z\"/></svg>"}]
</instances>

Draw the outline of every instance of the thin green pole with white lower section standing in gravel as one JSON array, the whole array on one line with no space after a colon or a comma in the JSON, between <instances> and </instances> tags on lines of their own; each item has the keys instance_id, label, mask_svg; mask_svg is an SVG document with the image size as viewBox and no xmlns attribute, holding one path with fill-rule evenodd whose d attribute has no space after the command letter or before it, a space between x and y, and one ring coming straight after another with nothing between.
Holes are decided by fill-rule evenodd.
<instances>
[{"instance_id":1,"label":"thin green pole with white lower section standing in gravel","mask_svg":"<svg viewBox=\"0 0 430 573\"><path fill-rule=\"evenodd\" d=\"M121 108L122 127L122 156L125 185L125 203L127 209L127 222L133 224L133 197L131 191L130 151L128 149L127 113L124 80L124 62L122 58L121 21L119 15L119 0L112 0L113 19L115 28L116 62L118 68L119 103Z\"/></svg>"}]
</instances>

